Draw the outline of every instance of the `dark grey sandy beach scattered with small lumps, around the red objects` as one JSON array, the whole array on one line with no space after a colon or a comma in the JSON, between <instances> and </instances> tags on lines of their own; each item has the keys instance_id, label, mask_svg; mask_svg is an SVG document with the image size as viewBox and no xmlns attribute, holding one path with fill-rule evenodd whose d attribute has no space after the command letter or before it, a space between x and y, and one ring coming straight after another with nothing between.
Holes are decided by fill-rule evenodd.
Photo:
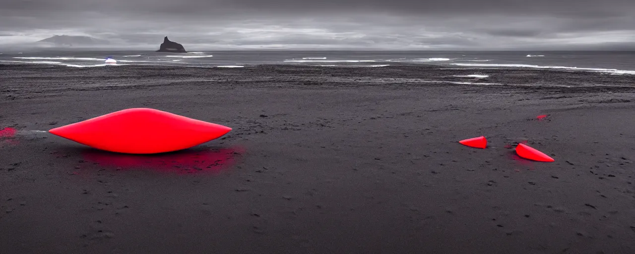
<instances>
[{"instance_id":1,"label":"dark grey sandy beach scattered with small lumps, around the red objects","mask_svg":"<svg viewBox=\"0 0 635 254\"><path fill-rule=\"evenodd\" d=\"M634 253L632 76L481 72L0 65L0 253ZM130 107L234 130L169 162L25 131Z\"/></svg>"}]
</instances>

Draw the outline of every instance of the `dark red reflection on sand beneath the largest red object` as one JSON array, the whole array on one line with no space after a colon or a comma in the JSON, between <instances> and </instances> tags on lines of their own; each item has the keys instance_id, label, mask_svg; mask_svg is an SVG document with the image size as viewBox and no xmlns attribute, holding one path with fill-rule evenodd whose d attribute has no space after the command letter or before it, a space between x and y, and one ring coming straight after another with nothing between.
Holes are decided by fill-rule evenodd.
<instances>
[{"instance_id":1,"label":"dark red reflection on sand beneath the largest red object","mask_svg":"<svg viewBox=\"0 0 635 254\"><path fill-rule=\"evenodd\" d=\"M146 169L173 173L218 172L236 163L243 154L241 147L181 150L164 154L118 154L102 150L89 149L82 153L84 159L99 163L100 167L117 170Z\"/></svg>"}]
</instances>

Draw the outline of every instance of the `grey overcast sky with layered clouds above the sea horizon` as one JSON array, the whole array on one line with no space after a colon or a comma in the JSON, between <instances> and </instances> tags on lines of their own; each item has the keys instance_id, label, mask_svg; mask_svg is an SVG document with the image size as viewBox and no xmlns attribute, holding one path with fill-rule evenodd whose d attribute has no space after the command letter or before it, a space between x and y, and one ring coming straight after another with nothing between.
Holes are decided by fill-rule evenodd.
<instances>
[{"instance_id":1,"label":"grey overcast sky with layered clouds above the sea horizon","mask_svg":"<svg viewBox=\"0 0 635 254\"><path fill-rule=\"evenodd\" d=\"M55 34L156 49L635 49L635 0L0 0L0 47Z\"/></svg>"}]
</instances>

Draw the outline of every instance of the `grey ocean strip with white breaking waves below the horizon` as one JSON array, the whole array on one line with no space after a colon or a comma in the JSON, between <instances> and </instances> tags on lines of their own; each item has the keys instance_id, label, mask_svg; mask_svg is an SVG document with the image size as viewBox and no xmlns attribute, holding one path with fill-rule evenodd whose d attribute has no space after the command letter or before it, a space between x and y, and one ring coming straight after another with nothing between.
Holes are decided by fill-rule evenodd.
<instances>
[{"instance_id":1,"label":"grey ocean strip with white breaking waves below the horizon","mask_svg":"<svg viewBox=\"0 0 635 254\"><path fill-rule=\"evenodd\" d=\"M112 57L116 64L106 64ZM189 67L249 67L301 64L324 67L384 67L441 65L467 68L533 68L635 75L635 51L32 51L0 53L0 64L67 67L175 65Z\"/></svg>"}]
</instances>

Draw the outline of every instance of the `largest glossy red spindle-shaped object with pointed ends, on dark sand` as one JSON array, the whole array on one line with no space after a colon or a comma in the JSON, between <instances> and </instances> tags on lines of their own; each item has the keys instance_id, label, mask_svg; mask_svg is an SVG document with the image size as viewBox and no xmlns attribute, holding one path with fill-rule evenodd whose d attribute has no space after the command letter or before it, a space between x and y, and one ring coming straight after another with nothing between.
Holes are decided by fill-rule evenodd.
<instances>
[{"instance_id":1,"label":"largest glossy red spindle-shaped object with pointed ends, on dark sand","mask_svg":"<svg viewBox=\"0 0 635 254\"><path fill-rule=\"evenodd\" d=\"M49 130L77 143L110 152L154 154L187 149L232 129L156 109L124 109Z\"/></svg>"}]
</instances>

